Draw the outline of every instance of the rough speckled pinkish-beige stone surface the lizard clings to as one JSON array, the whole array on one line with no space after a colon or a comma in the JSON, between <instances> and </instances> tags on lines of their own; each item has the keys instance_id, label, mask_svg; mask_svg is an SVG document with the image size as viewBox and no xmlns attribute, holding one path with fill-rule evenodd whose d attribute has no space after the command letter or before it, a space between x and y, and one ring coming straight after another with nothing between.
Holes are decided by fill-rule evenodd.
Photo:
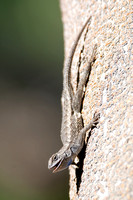
<instances>
[{"instance_id":1,"label":"rough speckled pinkish-beige stone surface the lizard clings to","mask_svg":"<svg viewBox=\"0 0 133 200\"><path fill-rule=\"evenodd\" d=\"M71 76L75 88L81 48L84 45L82 76L97 44L83 102L84 123L96 110L101 114L87 143L78 193L75 169L69 169L71 200L133 200L132 4L131 0L60 0L65 58L86 19L92 16L86 40L82 36L77 47Z\"/></svg>"}]
</instances>

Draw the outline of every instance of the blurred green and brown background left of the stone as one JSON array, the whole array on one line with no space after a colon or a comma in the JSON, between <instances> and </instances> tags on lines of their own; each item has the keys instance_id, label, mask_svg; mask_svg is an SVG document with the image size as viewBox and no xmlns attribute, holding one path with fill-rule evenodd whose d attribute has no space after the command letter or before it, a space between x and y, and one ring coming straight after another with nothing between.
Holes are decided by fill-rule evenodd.
<instances>
[{"instance_id":1,"label":"blurred green and brown background left of the stone","mask_svg":"<svg viewBox=\"0 0 133 200\"><path fill-rule=\"evenodd\" d=\"M57 0L0 1L0 200L68 199L59 150L63 29Z\"/></svg>"}]
</instances>

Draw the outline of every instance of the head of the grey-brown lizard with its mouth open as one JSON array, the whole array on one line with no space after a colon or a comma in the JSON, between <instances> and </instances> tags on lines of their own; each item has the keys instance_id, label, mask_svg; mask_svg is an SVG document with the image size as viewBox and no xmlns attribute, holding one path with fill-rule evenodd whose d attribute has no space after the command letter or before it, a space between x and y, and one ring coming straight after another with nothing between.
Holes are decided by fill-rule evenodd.
<instances>
[{"instance_id":1,"label":"head of the grey-brown lizard with its mouth open","mask_svg":"<svg viewBox=\"0 0 133 200\"><path fill-rule=\"evenodd\" d=\"M62 151L58 151L53 154L48 161L48 169L53 170L53 172L59 172L67 167L73 162L72 151L70 148Z\"/></svg>"}]
</instances>

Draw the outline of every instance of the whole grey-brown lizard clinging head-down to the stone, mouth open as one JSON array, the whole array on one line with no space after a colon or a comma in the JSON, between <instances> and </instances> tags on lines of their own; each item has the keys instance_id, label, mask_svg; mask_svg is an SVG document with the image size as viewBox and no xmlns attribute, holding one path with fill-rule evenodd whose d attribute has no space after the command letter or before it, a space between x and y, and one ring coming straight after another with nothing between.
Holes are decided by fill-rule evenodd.
<instances>
[{"instance_id":1,"label":"whole grey-brown lizard clinging head-down to the stone, mouth open","mask_svg":"<svg viewBox=\"0 0 133 200\"><path fill-rule=\"evenodd\" d=\"M79 39L85 29L90 25L91 17L89 17L79 32L70 52L66 64L63 69L63 92L61 97L62 103L62 124L61 124L61 140L63 146L53 154L48 161L48 169L53 172L59 172L74 164L76 156L83 148L86 132L93 126L96 126L100 114L95 113L92 120L86 126L83 126L83 118L81 114L82 98L84 94L84 86L86 84L91 65L95 58L95 48L88 63L82 79L79 80L77 90L74 93L71 84L71 66L76 47Z\"/></svg>"}]
</instances>

